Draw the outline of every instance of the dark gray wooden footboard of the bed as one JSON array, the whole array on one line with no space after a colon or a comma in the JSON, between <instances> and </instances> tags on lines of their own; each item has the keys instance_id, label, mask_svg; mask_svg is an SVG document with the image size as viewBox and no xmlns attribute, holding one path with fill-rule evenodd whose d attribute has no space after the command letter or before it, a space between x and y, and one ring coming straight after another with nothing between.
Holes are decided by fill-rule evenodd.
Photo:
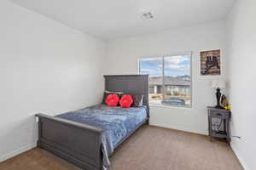
<instances>
[{"instance_id":1,"label":"dark gray wooden footboard of the bed","mask_svg":"<svg viewBox=\"0 0 256 170\"><path fill-rule=\"evenodd\" d=\"M37 114L38 146L85 170L102 170L102 129Z\"/></svg>"}]
</instances>

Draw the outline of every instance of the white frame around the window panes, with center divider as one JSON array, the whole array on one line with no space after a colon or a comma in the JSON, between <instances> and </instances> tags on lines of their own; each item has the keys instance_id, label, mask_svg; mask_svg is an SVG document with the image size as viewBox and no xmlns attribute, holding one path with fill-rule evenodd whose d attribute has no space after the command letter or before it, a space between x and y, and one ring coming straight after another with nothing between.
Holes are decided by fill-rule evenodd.
<instances>
[{"instance_id":1,"label":"white frame around the window panes, with center divider","mask_svg":"<svg viewBox=\"0 0 256 170\"><path fill-rule=\"evenodd\" d=\"M163 88L164 86L164 77L165 77L165 58L166 57L172 57L172 56L177 56L177 55L189 55L189 59L190 59L190 82L189 82L189 87L190 87L190 105L154 105L154 104L150 104L149 106L153 106L153 107L171 107L171 108L179 108L179 109L192 109L193 108L193 86L192 86L192 82L193 82L193 72L192 72L192 51L186 51L186 52L182 52L182 53L174 53L174 54L155 54L155 55L143 55L139 58L137 58L137 72L138 74L140 74L141 72L141 59L148 59L148 58L162 58L162 63L163 63L163 68L162 68L162 85ZM165 89L164 89L165 90ZM148 92L149 93L149 92Z\"/></svg>"}]
</instances>

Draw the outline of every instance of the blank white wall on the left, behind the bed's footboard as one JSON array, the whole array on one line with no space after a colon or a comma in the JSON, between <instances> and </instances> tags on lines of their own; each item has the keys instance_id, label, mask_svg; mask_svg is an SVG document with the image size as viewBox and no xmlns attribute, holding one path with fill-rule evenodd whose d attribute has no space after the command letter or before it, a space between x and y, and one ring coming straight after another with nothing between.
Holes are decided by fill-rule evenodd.
<instances>
[{"instance_id":1,"label":"blank white wall on the left, behind the bed's footboard","mask_svg":"<svg viewBox=\"0 0 256 170\"><path fill-rule=\"evenodd\" d=\"M0 1L0 161L34 146L35 116L102 99L105 43Z\"/></svg>"}]
</instances>

